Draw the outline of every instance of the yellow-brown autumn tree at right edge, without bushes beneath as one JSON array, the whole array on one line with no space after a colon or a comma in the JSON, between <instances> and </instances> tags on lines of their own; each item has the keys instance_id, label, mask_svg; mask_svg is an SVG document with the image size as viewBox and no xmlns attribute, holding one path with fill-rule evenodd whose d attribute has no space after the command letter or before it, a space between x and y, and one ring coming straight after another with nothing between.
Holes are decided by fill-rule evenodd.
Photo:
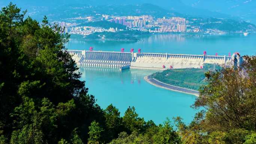
<instances>
[{"instance_id":1,"label":"yellow-brown autumn tree at right edge, without bushes beneath","mask_svg":"<svg viewBox=\"0 0 256 144\"><path fill-rule=\"evenodd\" d=\"M207 110L204 122L207 131L256 130L255 61L255 57L248 57L244 67L208 74L209 84L201 88L193 105Z\"/></svg>"}]
</instances>

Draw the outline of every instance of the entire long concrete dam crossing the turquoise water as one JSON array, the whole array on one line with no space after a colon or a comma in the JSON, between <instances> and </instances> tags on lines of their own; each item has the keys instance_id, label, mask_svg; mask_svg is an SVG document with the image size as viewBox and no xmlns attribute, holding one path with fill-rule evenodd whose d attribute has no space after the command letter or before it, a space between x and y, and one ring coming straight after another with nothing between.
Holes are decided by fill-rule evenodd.
<instances>
[{"instance_id":1,"label":"entire long concrete dam crossing the turquoise water","mask_svg":"<svg viewBox=\"0 0 256 144\"><path fill-rule=\"evenodd\" d=\"M127 68L136 69L153 69L165 70L173 68L203 68L204 64L217 64L226 67L239 66L242 57L239 53L232 56L207 55L204 51L203 55L187 55L187 54L170 54L170 53L141 53L110 51L93 51L90 50L67 50L72 55L77 65L92 69L119 69L120 71Z\"/></svg>"}]
</instances>

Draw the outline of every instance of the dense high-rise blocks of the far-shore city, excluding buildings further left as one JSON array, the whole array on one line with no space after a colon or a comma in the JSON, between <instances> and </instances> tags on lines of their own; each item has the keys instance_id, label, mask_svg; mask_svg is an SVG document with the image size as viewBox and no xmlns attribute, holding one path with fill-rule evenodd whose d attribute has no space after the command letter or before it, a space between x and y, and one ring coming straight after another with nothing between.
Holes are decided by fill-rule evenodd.
<instances>
[{"instance_id":1,"label":"dense high-rise blocks of the far-shore city, excluding buildings further left","mask_svg":"<svg viewBox=\"0 0 256 144\"><path fill-rule=\"evenodd\" d=\"M189 21L185 18L171 17L171 18L157 18L154 19L150 15L142 16L108 16L102 15L104 20L115 22L117 24L125 25L129 28L137 28L139 30L148 30L152 33L165 32L186 32L186 26Z\"/></svg>"}]
</instances>

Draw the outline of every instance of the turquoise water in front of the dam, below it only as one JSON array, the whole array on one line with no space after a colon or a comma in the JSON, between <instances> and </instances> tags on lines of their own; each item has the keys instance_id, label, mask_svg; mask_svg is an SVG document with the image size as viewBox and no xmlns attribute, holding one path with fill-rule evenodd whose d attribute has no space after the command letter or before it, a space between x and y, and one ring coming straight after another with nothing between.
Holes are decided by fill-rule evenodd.
<instances>
[{"instance_id":1,"label":"turquoise water in front of the dam, below it only","mask_svg":"<svg viewBox=\"0 0 256 144\"><path fill-rule=\"evenodd\" d=\"M119 73L80 68L80 72L83 73L81 79L86 80L89 94L95 96L97 103L102 108L113 104L121 115L129 106L134 106L140 117L159 124L166 117L177 116L188 123L196 113L190 108L196 98L194 95L158 88L144 80L144 76L156 71L130 69Z\"/></svg>"}]
</instances>

